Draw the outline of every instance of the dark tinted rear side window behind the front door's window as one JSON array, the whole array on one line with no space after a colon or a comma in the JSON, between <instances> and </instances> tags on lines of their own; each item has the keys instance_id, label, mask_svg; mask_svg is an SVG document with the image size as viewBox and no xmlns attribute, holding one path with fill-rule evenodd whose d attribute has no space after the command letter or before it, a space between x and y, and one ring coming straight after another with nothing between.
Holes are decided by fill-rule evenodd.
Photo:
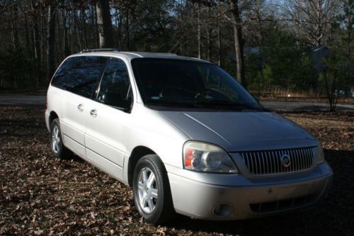
<instances>
[{"instance_id":1,"label":"dark tinted rear side window behind the front door's window","mask_svg":"<svg viewBox=\"0 0 354 236\"><path fill-rule=\"evenodd\" d=\"M52 86L91 98L109 57L69 57L52 79Z\"/></svg>"}]
</instances>

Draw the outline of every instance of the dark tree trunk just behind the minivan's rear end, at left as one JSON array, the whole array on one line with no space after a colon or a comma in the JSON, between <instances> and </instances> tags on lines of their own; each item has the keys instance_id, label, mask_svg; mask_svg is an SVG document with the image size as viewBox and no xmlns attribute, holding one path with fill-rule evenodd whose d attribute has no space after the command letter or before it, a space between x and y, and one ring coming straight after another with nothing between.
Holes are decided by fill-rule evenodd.
<instances>
[{"instance_id":1,"label":"dark tree trunk just behind the minivan's rear end, at left","mask_svg":"<svg viewBox=\"0 0 354 236\"><path fill-rule=\"evenodd\" d=\"M55 49L55 1L51 1L48 6L48 32L47 32L47 80L50 82L55 72L54 49Z\"/></svg>"}]
</instances>

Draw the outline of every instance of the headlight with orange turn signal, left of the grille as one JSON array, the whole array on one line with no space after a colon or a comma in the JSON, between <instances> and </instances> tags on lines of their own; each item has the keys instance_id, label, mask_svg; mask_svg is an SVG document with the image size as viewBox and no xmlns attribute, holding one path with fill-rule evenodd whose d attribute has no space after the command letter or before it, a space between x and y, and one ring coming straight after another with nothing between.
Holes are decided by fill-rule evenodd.
<instances>
[{"instance_id":1,"label":"headlight with orange turn signal, left of the grille","mask_svg":"<svg viewBox=\"0 0 354 236\"><path fill-rule=\"evenodd\" d=\"M234 162L221 147L205 142L185 142L184 168L196 172L238 173Z\"/></svg>"}]
</instances>

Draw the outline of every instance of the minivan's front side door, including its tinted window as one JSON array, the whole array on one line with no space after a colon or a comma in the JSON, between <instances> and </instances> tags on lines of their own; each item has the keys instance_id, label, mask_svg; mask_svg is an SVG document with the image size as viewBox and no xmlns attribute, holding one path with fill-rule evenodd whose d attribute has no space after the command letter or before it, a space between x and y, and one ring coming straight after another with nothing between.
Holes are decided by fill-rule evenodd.
<instances>
[{"instance_id":1,"label":"minivan's front side door, including its tinted window","mask_svg":"<svg viewBox=\"0 0 354 236\"><path fill-rule=\"evenodd\" d=\"M122 179L127 132L132 122L132 89L125 62L111 58L96 98L88 104L86 158Z\"/></svg>"}]
</instances>

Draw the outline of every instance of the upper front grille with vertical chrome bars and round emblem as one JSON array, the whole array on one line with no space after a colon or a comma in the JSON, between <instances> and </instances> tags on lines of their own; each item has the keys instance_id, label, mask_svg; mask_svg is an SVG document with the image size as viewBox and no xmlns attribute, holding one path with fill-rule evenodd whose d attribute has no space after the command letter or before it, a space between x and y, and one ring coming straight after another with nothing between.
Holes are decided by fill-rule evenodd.
<instances>
[{"instance_id":1,"label":"upper front grille with vertical chrome bars and round emblem","mask_svg":"<svg viewBox=\"0 0 354 236\"><path fill-rule=\"evenodd\" d=\"M263 176L302 172L311 169L314 149L315 147L304 147L287 150L239 152L239 154L252 175ZM285 156L290 159L288 167L282 161Z\"/></svg>"}]
</instances>

